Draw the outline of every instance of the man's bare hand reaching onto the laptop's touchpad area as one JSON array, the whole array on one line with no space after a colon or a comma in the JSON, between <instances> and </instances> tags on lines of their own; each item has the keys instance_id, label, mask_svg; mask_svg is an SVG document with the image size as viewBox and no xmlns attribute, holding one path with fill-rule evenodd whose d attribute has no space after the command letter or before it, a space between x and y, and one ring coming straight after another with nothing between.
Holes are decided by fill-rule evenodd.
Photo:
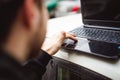
<instances>
[{"instance_id":1,"label":"man's bare hand reaching onto the laptop's touchpad area","mask_svg":"<svg viewBox=\"0 0 120 80\"><path fill-rule=\"evenodd\" d=\"M62 31L58 35L53 36L49 41L45 41L42 49L52 56L61 48L63 41L68 38L77 41L74 34Z\"/></svg>"}]
</instances>

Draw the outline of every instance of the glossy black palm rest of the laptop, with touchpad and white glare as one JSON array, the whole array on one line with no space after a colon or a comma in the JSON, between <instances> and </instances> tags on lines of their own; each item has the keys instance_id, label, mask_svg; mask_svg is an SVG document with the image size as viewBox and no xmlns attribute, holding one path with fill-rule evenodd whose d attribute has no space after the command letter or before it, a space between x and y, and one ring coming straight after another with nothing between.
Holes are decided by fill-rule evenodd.
<instances>
[{"instance_id":1,"label":"glossy black palm rest of the laptop, with touchpad and white glare","mask_svg":"<svg viewBox=\"0 0 120 80\"><path fill-rule=\"evenodd\" d=\"M85 38L79 38L78 40L77 43L70 39L65 40L63 48L82 51L111 59L117 59L120 53L120 44L94 41Z\"/></svg>"}]
</instances>

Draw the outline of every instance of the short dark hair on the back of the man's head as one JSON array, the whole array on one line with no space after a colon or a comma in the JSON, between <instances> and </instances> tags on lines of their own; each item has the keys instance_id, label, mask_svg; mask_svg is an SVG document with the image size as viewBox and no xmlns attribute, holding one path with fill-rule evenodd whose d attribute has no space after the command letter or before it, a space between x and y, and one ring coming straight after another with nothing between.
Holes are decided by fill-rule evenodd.
<instances>
[{"instance_id":1,"label":"short dark hair on the back of the man's head","mask_svg":"<svg viewBox=\"0 0 120 80\"><path fill-rule=\"evenodd\" d=\"M3 44L12 28L19 7L24 0L0 0L0 45Z\"/></svg>"}]
</instances>

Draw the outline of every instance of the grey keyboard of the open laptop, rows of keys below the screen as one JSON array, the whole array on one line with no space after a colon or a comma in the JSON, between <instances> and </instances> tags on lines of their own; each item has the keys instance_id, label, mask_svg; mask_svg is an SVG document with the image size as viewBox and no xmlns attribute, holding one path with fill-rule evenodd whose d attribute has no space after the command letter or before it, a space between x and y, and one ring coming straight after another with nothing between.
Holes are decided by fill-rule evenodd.
<instances>
[{"instance_id":1,"label":"grey keyboard of the open laptop, rows of keys below the screen","mask_svg":"<svg viewBox=\"0 0 120 80\"><path fill-rule=\"evenodd\" d=\"M120 43L120 31L103 30L96 28L77 28L73 31L77 37L98 40L110 43Z\"/></svg>"}]
</instances>

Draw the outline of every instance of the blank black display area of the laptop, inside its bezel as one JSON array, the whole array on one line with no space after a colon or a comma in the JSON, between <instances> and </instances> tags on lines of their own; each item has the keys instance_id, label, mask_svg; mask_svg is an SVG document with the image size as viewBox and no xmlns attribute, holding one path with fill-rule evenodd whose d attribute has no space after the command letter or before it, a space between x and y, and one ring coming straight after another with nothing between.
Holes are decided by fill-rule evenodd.
<instances>
[{"instance_id":1,"label":"blank black display area of the laptop, inside its bezel","mask_svg":"<svg viewBox=\"0 0 120 80\"><path fill-rule=\"evenodd\" d=\"M84 19L120 21L120 0L81 0Z\"/></svg>"}]
</instances>

